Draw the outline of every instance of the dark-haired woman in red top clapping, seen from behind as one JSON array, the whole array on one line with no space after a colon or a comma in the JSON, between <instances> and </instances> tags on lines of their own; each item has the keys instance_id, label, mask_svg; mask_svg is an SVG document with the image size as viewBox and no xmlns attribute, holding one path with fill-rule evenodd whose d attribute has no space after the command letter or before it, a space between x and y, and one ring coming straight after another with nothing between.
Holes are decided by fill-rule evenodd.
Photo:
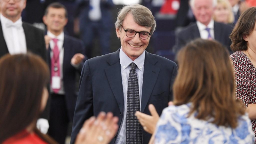
<instances>
[{"instance_id":1,"label":"dark-haired woman in red top clapping, seen from behind","mask_svg":"<svg viewBox=\"0 0 256 144\"><path fill-rule=\"evenodd\" d=\"M50 72L32 53L5 55L0 59L0 143L55 144L36 129L36 120L48 99ZM85 121L76 143L107 144L115 135L118 118L100 113Z\"/></svg>"}]
</instances>

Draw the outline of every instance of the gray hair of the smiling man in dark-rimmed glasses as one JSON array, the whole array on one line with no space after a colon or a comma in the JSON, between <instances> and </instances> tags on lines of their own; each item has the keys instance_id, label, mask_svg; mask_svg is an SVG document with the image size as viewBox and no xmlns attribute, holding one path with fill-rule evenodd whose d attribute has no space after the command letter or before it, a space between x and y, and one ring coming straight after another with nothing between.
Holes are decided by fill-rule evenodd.
<instances>
[{"instance_id":1,"label":"gray hair of the smiling man in dark-rimmed glasses","mask_svg":"<svg viewBox=\"0 0 256 144\"><path fill-rule=\"evenodd\" d=\"M126 5L120 9L117 14L116 28L121 28L126 15L130 13L133 20L140 26L151 27L151 33L156 30L156 20L152 12L145 6L140 4Z\"/></svg>"}]
</instances>

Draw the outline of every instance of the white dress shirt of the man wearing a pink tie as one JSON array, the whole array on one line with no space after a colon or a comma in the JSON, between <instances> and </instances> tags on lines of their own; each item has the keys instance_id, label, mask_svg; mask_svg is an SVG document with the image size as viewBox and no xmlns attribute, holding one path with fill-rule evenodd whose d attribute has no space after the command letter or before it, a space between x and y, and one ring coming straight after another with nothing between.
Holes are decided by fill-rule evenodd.
<instances>
[{"instance_id":1,"label":"white dress shirt of the man wearing a pink tie","mask_svg":"<svg viewBox=\"0 0 256 144\"><path fill-rule=\"evenodd\" d=\"M63 84L63 57L64 57L64 47L63 47L63 43L64 43L64 32L61 32L59 36L55 36L54 34L52 34L50 31L47 31L47 36L53 38L57 38L58 42L57 45L59 47L59 60L60 60L60 91L58 92L58 94L65 94L65 90L64 90L64 84ZM51 58L53 56L53 48L54 48L54 42L53 40L50 40L50 47L51 47ZM51 92L52 91L52 86L51 86Z\"/></svg>"}]
</instances>

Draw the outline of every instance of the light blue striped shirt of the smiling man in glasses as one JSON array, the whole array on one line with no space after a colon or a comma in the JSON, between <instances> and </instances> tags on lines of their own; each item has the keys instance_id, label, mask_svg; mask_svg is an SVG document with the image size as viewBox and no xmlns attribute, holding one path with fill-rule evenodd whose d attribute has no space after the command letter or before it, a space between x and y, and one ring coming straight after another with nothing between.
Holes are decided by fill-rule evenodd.
<instances>
[{"instance_id":1,"label":"light blue striped shirt of the smiling man in glasses","mask_svg":"<svg viewBox=\"0 0 256 144\"><path fill-rule=\"evenodd\" d=\"M121 64L121 74L123 82L123 92L124 92L124 112L123 119L119 128L119 132L116 137L116 144L125 144L126 141L126 106L127 106L127 87L128 78L131 70L130 64L134 62L137 65L136 73L139 82L139 93L140 93L140 110L141 110L141 92L143 83L143 72L144 72L144 61L145 61L145 51L134 61L130 59L122 50L119 52L120 64ZM142 138L141 138L142 139Z\"/></svg>"}]
</instances>

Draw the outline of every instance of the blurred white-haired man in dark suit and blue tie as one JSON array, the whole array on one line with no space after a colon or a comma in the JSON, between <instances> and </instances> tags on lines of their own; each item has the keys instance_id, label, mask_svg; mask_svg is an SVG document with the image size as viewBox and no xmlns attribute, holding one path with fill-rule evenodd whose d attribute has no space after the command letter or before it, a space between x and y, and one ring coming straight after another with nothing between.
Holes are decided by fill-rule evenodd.
<instances>
[{"instance_id":1,"label":"blurred white-haired man in dark suit and blue tie","mask_svg":"<svg viewBox=\"0 0 256 144\"><path fill-rule=\"evenodd\" d=\"M217 0L190 0L190 6L196 18L193 23L176 35L173 51L177 53L188 42L201 37L202 39L214 39L227 47L230 53L231 41L229 35L232 27L223 23L213 21L212 15Z\"/></svg>"}]
</instances>

